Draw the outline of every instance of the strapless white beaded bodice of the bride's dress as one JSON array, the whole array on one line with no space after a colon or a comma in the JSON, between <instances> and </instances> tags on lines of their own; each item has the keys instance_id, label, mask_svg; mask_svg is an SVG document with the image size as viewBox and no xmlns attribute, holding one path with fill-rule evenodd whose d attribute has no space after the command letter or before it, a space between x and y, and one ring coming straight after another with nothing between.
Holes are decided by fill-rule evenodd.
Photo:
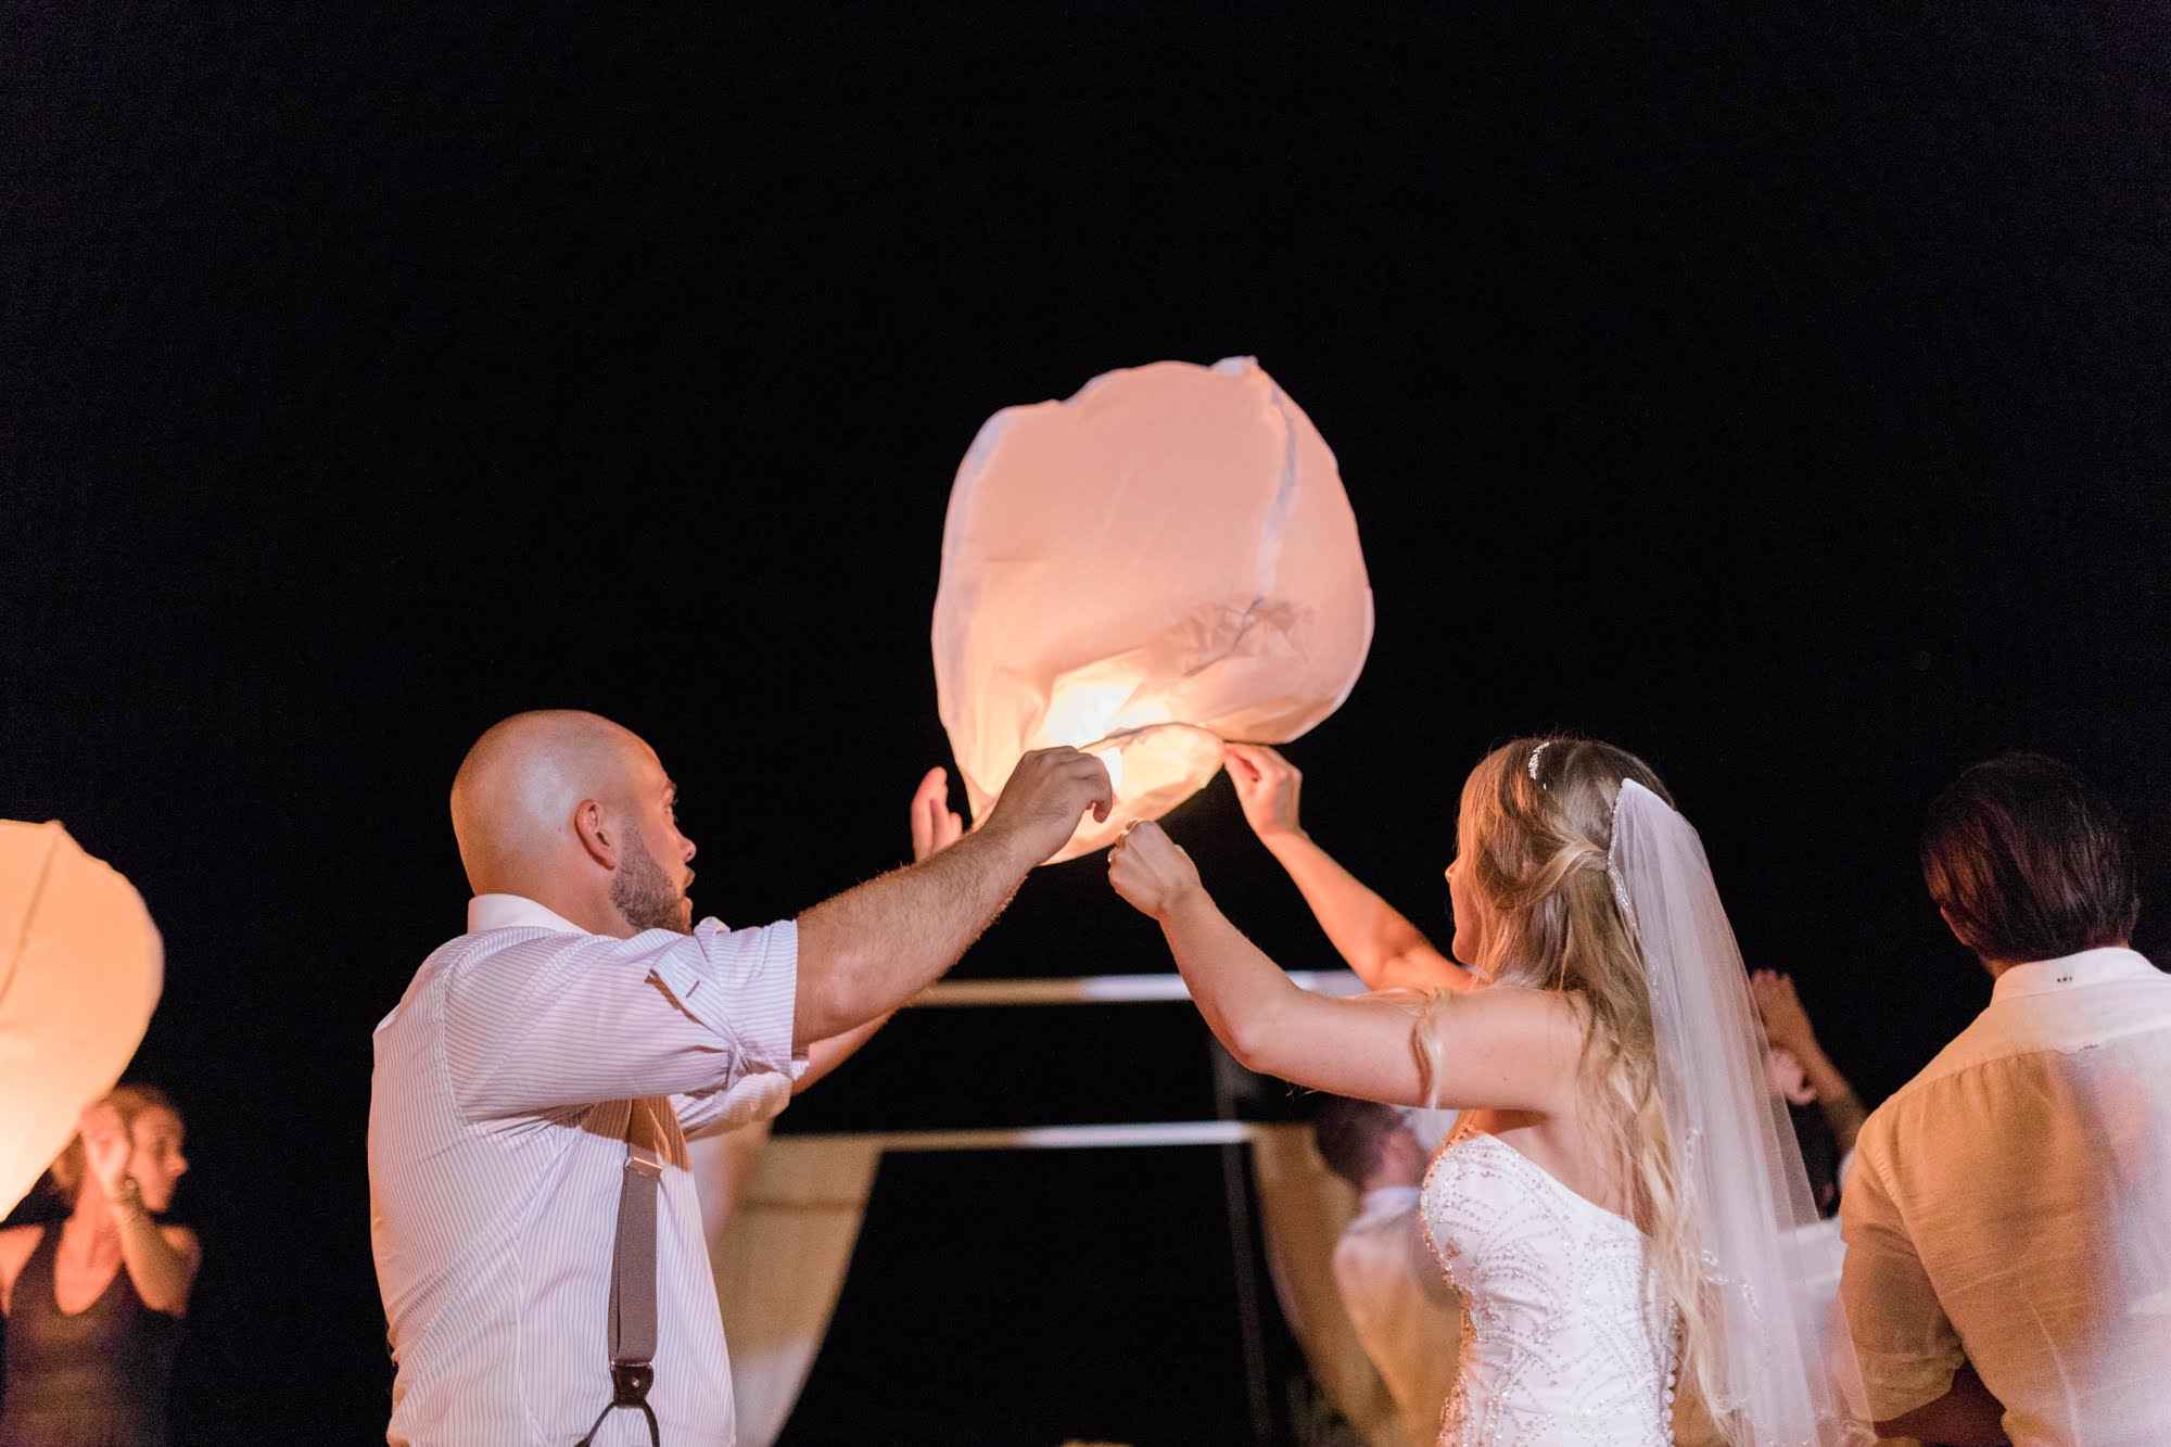
<instances>
[{"instance_id":1,"label":"strapless white beaded bodice of the bride's dress","mask_svg":"<svg viewBox=\"0 0 2171 1447\"><path fill-rule=\"evenodd\" d=\"M1672 1312L1643 1232L1476 1130L1433 1156L1420 1206L1470 1312L1444 1447L1672 1443Z\"/></svg>"}]
</instances>

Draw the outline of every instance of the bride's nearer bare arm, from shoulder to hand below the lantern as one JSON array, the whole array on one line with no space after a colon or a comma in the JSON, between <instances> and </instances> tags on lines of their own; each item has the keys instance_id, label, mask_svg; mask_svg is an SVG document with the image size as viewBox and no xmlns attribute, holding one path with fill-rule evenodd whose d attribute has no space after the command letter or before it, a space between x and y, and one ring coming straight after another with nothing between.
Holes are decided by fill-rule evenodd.
<instances>
[{"instance_id":1,"label":"bride's nearer bare arm, from shoulder to hand below the lantern","mask_svg":"<svg viewBox=\"0 0 2171 1447\"><path fill-rule=\"evenodd\" d=\"M1159 921L1198 1012L1250 1071L1398 1106L1554 1112L1574 1097L1583 1032L1574 1006L1550 991L1439 999L1429 1021L1435 1049L1422 1052L1424 995L1335 999L1298 989L1229 923L1192 856L1159 826L1125 834L1107 878Z\"/></svg>"}]
</instances>

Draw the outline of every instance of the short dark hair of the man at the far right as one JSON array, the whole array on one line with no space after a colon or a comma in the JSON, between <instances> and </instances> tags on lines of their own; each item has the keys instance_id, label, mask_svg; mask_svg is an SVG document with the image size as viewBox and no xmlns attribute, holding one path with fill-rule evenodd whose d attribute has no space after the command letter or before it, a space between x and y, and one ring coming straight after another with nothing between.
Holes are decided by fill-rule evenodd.
<instances>
[{"instance_id":1,"label":"short dark hair of the man at the far right","mask_svg":"<svg viewBox=\"0 0 2171 1447\"><path fill-rule=\"evenodd\" d=\"M2054 960L2132 939L2141 884L2125 821L2073 767L1999 754L1930 804L1921 880L1984 960Z\"/></svg>"}]
</instances>

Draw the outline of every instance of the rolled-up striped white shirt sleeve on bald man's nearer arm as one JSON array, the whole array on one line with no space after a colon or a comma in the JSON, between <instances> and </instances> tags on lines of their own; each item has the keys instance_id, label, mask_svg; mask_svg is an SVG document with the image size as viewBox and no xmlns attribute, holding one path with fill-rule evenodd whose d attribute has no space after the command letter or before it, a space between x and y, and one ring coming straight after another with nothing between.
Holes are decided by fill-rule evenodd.
<instances>
[{"instance_id":1,"label":"rolled-up striped white shirt sleeve on bald man's nearer arm","mask_svg":"<svg viewBox=\"0 0 2171 1447\"><path fill-rule=\"evenodd\" d=\"M714 1097L723 1112L749 1075L790 1093L797 986L790 919L632 939L536 930L447 982L445 1067L471 1119L645 1095Z\"/></svg>"}]
</instances>

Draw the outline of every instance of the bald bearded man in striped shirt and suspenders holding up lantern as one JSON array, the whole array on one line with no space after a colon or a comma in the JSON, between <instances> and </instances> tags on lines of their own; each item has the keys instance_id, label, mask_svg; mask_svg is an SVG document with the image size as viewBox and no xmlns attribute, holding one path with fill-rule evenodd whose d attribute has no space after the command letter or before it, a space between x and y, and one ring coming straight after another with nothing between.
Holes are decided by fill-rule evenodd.
<instances>
[{"instance_id":1,"label":"bald bearded man in striped shirt and suspenders holding up lantern","mask_svg":"<svg viewBox=\"0 0 2171 1447\"><path fill-rule=\"evenodd\" d=\"M1096 758L1044 750L957 839L931 773L914 800L925 858L727 930L693 921L673 797L647 743L567 710L497 724L454 780L467 934L378 1026L369 1091L395 1447L732 1447L686 1138L775 1110L821 1043L842 1054L931 984L1079 817L1112 804ZM636 1330L619 1334L640 1310L627 1297L621 1321L614 1243L621 1188L638 1197L651 1178L645 1354ZM625 1256L638 1280L647 1251Z\"/></svg>"}]
</instances>

